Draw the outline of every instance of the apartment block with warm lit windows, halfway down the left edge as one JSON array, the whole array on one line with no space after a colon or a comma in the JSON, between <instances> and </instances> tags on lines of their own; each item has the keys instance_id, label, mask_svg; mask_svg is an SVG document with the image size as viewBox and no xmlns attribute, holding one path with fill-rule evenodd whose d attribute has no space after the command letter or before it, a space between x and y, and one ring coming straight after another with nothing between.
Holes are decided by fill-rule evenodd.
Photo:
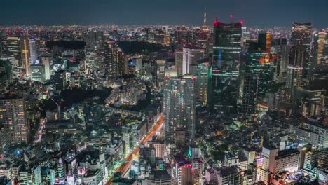
<instances>
[{"instance_id":1,"label":"apartment block with warm lit windows, halfway down the left edge","mask_svg":"<svg viewBox=\"0 0 328 185\"><path fill-rule=\"evenodd\" d=\"M11 144L27 144L29 123L25 113L25 102L21 98L5 97L0 100L0 125L8 127Z\"/></svg>"}]
</instances>

